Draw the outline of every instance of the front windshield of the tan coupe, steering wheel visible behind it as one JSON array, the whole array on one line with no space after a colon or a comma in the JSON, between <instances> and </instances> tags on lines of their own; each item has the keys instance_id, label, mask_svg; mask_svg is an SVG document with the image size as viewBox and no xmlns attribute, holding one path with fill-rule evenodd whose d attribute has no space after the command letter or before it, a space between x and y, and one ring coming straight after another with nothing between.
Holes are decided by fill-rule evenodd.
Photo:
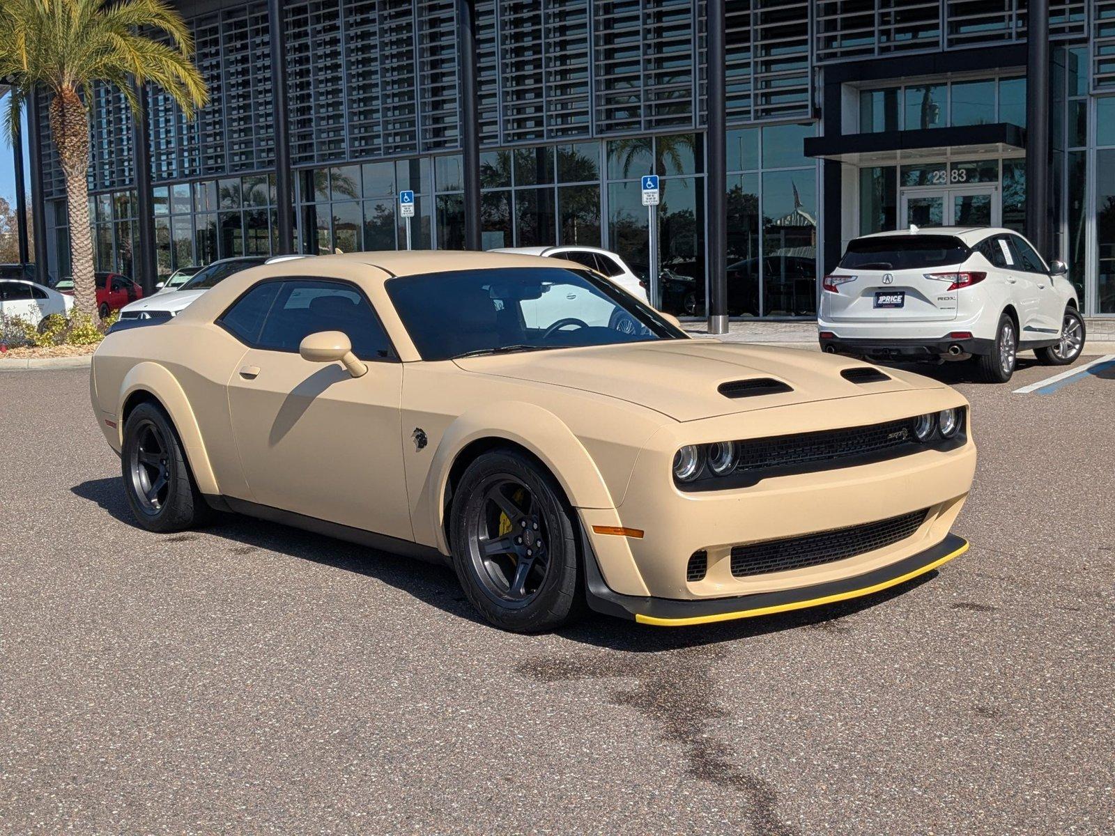
<instances>
[{"instance_id":1,"label":"front windshield of the tan coupe, steering wheel visible behind it","mask_svg":"<svg viewBox=\"0 0 1115 836\"><path fill-rule=\"evenodd\" d=\"M586 270L501 268L389 279L387 293L424 360L685 339Z\"/></svg>"}]
</instances>

